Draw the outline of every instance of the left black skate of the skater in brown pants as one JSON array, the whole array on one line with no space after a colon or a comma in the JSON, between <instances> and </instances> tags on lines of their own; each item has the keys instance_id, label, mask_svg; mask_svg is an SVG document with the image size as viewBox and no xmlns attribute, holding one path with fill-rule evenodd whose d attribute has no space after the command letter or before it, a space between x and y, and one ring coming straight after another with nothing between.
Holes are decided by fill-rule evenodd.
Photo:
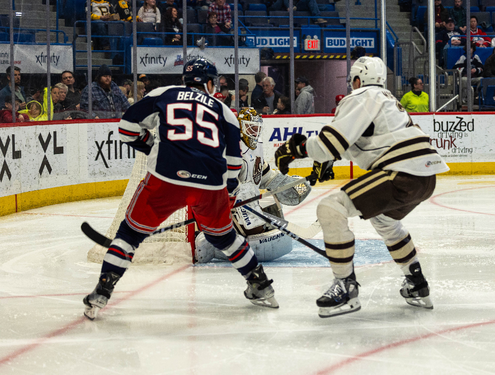
<instances>
[{"instance_id":1,"label":"left black skate of the skater in brown pants","mask_svg":"<svg viewBox=\"0 0 495 375\"><path fill-rule=\"evenodd\" d=\"M320 318L348 314L361 309L357 298L358 285L357 281L350 277L336 278L332 286L316 300L316 305L320 308Z\"/></svg>"}]
</instances>

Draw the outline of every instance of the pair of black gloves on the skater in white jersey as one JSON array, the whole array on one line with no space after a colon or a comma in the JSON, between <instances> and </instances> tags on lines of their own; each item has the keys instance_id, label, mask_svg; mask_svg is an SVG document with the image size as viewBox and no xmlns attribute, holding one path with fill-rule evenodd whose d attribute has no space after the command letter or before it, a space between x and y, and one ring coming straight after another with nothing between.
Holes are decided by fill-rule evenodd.
<instances>
[{"instance_id":1,"label":"pair of black gloves on the skater in white jersey","mask_svg":"<svg viewBox=\"0 0 495 375\"><path fill-rule=\"evenodd\" d=\"M282 174L287 174L289 172L289 164L293 160L308 157L306 152L306 139L307 138L304 135L296 133L291 139L277 149L275 152L275 161ZM313 174L316 178L309 181L311 186L316 184L316 180L318 180L318 182L333 180L335 178L333 165L334 161L324 161L322 163L314 161Z\"/></svg>"}]
</instances>

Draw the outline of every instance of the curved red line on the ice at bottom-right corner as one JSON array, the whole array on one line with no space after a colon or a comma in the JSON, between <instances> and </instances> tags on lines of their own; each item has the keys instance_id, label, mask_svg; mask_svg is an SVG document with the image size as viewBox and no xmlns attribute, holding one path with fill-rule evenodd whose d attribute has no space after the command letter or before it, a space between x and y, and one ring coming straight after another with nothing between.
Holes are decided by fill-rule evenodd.
<instances>
[{"instance_id":1,"label":"curved red line on the ice at bottom-right corner","mask_svg":"<svg viewBox=\"0 0 495 375\"><path fill-rule=\"evenodd\" d=\"M414 337L411 337L411 338L408 338L408 339L405 339L405 340L396 341L396 342L393 342L393 343L388 344L388 345L380 346L380 347L378 347L376 349L372 349L372 350L368 350L368 351L363 352L363 353L360 353L360 354L356 354L356 355L354 355L354 356L352 356L350 358L347 358L344 361L337 362L335 365L332 365L330 367L327 367L327 368L325 368L323 370L318 371L317 373L315 373L315 375L332 374L335 371L337 371L339 369L342 369L343 367L345 367L347 365L350 365L350 364L352 364L354 362L363 360L363 359L365 359L367 357L371 357L374 354L378 354L378 353L384 352L384 351L389 350L389 349L395 349L395 348L397 348L399 346L403 346L403 345L406 345L406 344L411 344L413 342L417 342L417 341L420 341L420 340L425 340L425 339L431 338L433 336L438 336L438 335L442 335L442 334L445 334L445 333L460 331L462 329L481 327L483 325L488 325L488 324L493 324L493 323L495 323L495 320L493 320L493 321L482 321L482 322L479 322L479 323L465 324L465 325L460 325L460 326L454 327L454 328L442 329L442 330L437 331L437 332L430 332L430 333L426 333L426 334L423 334L423 335L414 336Z\"/></svg>"}]
</instances>

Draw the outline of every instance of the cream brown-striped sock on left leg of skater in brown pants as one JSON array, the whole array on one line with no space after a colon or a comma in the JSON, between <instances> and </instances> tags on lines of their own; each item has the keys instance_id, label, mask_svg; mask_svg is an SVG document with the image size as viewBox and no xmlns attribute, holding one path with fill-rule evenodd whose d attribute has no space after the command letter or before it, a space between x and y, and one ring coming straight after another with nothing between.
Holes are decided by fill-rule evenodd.
<instances>
[{"instance_id":1,"label":"cream brown-striped sock on left leg of skater in brown pants","mask_svg":"<svg viewBox=\"0 0 495 375\"><path fill-rule=\"evenodd\" d=\"M353 272L354 234L349 230L347 217L359 214L342 190L321 200L316 209L335 278L344 279Z\"/></svg>"}]
</instances>

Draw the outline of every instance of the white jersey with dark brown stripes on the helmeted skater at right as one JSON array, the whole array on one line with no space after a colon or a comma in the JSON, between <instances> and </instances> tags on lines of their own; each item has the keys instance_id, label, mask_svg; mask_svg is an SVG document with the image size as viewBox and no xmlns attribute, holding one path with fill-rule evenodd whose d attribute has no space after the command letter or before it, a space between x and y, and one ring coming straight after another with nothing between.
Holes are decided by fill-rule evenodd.
<instances>
[{"instance_id":1,"label":"white jersey with dark brown stripes on the helmeted skater at right","mask_svg":"<svg viewBox=\"0 0 495 375\"><path fill-rule=\"evenodd\" d=\"M414 125L392 93L380 86L354 90L340 102L330 125L309 137L306 151L316 161L355 162L361 169L384 169L416 176L449 170L430 137Z\"/></svg>"}]
</instances>

